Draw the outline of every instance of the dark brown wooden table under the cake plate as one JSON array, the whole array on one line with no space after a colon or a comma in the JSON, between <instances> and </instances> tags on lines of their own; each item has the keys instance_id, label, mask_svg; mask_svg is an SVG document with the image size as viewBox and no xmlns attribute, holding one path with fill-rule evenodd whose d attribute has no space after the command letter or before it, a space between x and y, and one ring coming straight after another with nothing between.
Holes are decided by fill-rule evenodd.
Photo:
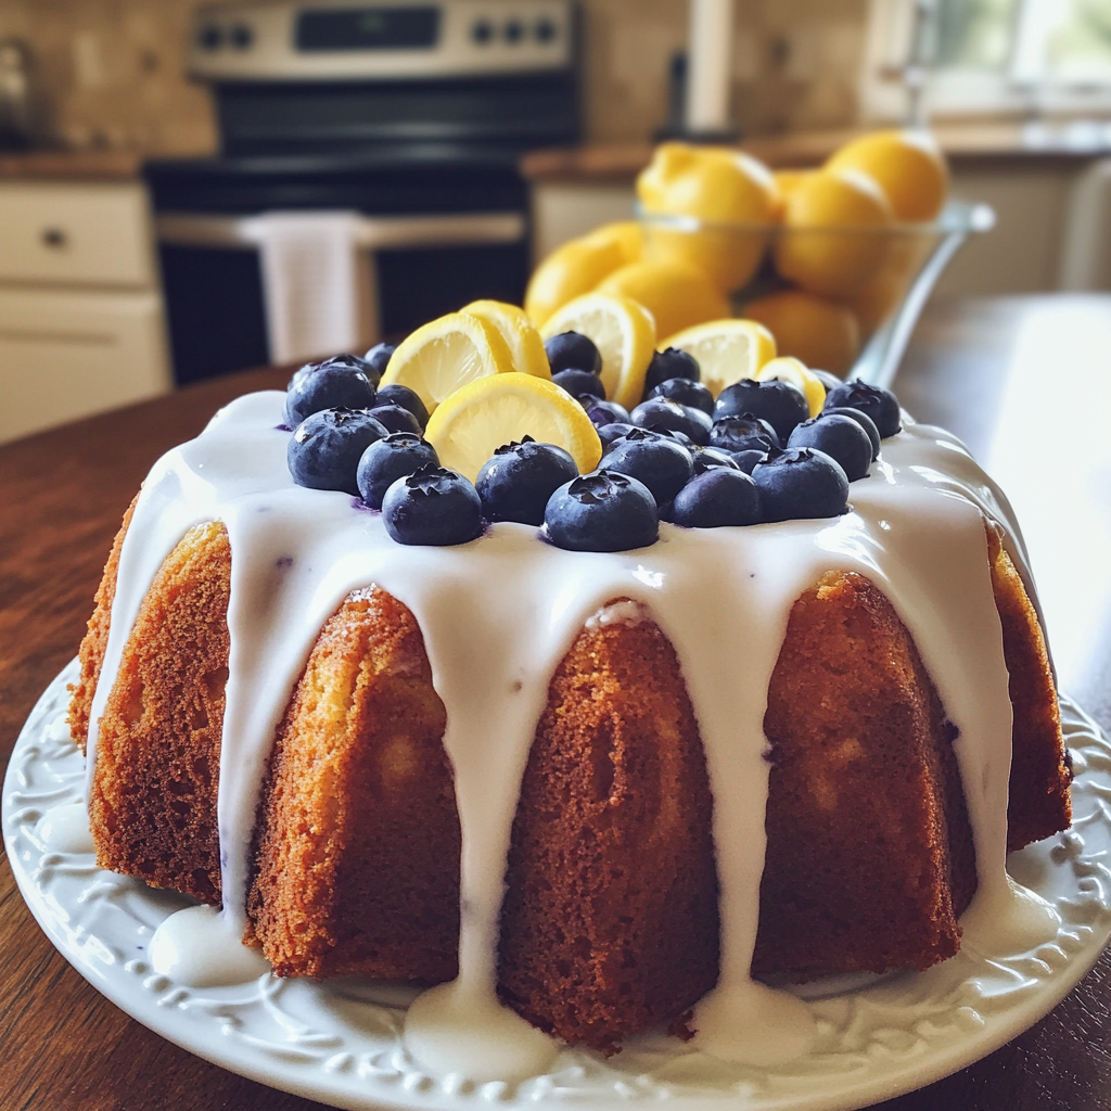
<instances>
[{"instance_id":1,"label":"dark brown wooden table under the cake plate","mask_svg":"<svg viewBox=\"0 0 1111 1111\"><path fill-rule=\"evenodd\" d=\"M199 432L227 400L283 387L287 377L251 371L0 447L0 767L34 700L77 651L112 536L150 464ZM920 419L948 424L989 469L997 460L1008 472L998 477L1019 502L1042 578L1062 687L1111 731L1111 546L1098 547L1111 536L1111 297L931 306L897 390ZM1020 419L1023 398L1040 416L1029 429ZM1088 450L1078 450L1081 439ZM1053 477L1052 497L1039 484L1042 470ZM1085 549L1088 590L1058 595L1049 584L1077 575L1054 537L1061 514L1084 503L1089 513L1074 539ZM1033 1029L882 1107L1107 1111L1109 978L1104 954ZM0 863L0 1062L4 1111L320 1107L210 1065L117 1010L46 940L7 861Z\"/></svg>"}]
</instances>

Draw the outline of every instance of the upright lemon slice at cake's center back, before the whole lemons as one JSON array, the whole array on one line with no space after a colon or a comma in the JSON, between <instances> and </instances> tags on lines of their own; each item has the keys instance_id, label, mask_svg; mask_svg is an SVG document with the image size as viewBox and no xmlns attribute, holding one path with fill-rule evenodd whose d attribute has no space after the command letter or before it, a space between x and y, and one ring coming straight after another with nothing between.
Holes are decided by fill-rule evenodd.
<instances>
[{"instance_id":1,"label":"upright lemon slice at cake's center back, before the whole lemons","mask_svg":"<svg viewBox=\"0 0 1111 1111\"><path fill-rule=\"evenodd\" d=\"M619 293L584 293L557 309L540 329L546 340L561 332L594 341L610 401L625 409L640 404L644 372L655 352L655 321L648 309Z\"/></svg>"}]
</instances>

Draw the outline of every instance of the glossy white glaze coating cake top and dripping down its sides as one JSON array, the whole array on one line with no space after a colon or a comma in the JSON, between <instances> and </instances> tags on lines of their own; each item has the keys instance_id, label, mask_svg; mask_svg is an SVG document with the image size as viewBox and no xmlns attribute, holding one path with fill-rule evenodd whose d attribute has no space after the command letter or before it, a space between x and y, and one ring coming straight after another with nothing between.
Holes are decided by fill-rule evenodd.
<instances>
[{"instance_id":1,"label":"glossy white glaze coating cake top and dripping down its sides","mask_svg":"<svg viewBox=\"0 0 1111 1111\"><path fill-rule=\"evenodd\" d=\"M223 521L232 551L231 652L218 809L232 933L243 923L259 783L286 702L324 620L349 592L378 584L412 610L422 630L447 709L444 748L462 830L459 979L413 1008L408 1043L434 1071L454 1071L472 1060L473 1044L461 1029L457 1040L449 1037L452 1017L481 1011L490 1019L486 1060L493 1062L483 1071L543 1068L550 1047L538 1048L531 1031L522 1038L520 1020L493 994L520 779L548 683L574 635L592 619L630 620L647 610L679 658L714 797L722 964L718 988L697 1011L695 1044L752 1063L769 1052L781 1058L784 1047L803 1052L805 1005L753 985L749 967L764 852L768 682L791 604L828 570L860 571L884 591L960 730L979 873L969 915L979 944L990 949L992 932L1017 929L1020 917L1024 937L1052 932L1003 869L1011 709L981 513L1004 526L1020 565L1022 543L1010 507L952 437L908 422L884 441L871 476L852 484L853 511L830 521L663 524L657 544L621 553L564 552L511 523L469 544L407 548L347 494L293 484L289 433L278 428L282 401L277 392L241 398L156 464L123 543L91 714L98 722L164 557L192 524ZM609 604L622 598L634 604ZM91 733L89 751L91 775ZM769 1025L778 1043L770 1050L758 1037Z\"/></svg>"}]
</instances>

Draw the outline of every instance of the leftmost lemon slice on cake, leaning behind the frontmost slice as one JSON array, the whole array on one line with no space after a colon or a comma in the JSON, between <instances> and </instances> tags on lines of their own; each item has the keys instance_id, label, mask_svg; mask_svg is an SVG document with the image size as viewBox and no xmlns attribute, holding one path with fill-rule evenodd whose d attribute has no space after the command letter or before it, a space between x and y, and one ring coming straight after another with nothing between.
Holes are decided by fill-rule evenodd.
<instances>
[{"instance_id":1,"label":"leftmost lemon slice on cake, leaning behind the frontmost slice","mask_svg":"<svg viewBox=\"0 0 1111 1111\"><path fill-rule=\"evenodd\" d=\"M501 332L470 312L449 312L407 336L390 357L382 386L408 386L432 412L449 393L513 369Z\"/></svg>"}]
</instances>

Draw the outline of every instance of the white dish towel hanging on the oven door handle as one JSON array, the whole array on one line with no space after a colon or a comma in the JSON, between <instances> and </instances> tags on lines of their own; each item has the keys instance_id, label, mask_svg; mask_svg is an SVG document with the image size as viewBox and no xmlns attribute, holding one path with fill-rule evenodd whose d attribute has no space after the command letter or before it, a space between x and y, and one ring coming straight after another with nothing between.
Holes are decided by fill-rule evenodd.
<instances>
[{"instance_id":1,"label":"white dish towel hanging on the oven door handle","mask_svg":"<svg viewBox=\"0 0 1111 1111\"><path fill-rule=\"evenodd\" d=\"M361 354L377 332L372 258L358 212L264 212L251 238L262 260L270 361Z\"/></svg>"}]
</instances>

